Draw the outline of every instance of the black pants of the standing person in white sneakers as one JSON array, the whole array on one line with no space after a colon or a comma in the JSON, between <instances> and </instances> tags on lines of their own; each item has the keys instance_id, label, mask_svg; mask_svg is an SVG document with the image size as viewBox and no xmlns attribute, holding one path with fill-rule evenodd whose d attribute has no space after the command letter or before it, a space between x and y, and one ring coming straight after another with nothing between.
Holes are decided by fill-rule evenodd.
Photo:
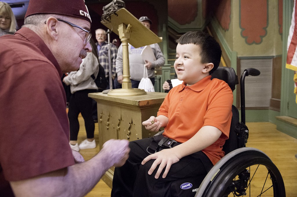
<instances>
[{"instance_id":1,"label":"black pants of the standing person in white sneakers","mask_svg":"<svg viewBox=\"0 0 297 197\"><path fill-rule=\"evenodd\" d=\"M93 99L88 97L89 93L96 92L95 89L84 89L74 92L69 100L68 119L70 128L70 140L77 140L79 131L78 115L81 113L85 121L87 138L94 138L95 123L92 117Z\"/></svg>"}]
</instances>

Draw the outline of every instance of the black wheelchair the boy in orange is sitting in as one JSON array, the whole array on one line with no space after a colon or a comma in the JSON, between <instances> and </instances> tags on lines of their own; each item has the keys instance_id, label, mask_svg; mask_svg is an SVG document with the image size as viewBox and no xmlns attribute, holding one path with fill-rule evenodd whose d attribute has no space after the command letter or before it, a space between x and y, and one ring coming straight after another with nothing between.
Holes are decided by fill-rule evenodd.
<instances>
[{"instance_id":1,"label":"black wheelchair the boy in orange is sitting in","mask_svg":"<svg viewBox=\"0 0 297 197\"><path fill-rule=\"evenodd\" d=\"M238 84L238 76L233 68L219 67L211 75L212 79L224 80L232 91ZM229 139L223 145L225 156L210 169L204 179L190 177L173 182L171 189L177 193L174 196L194 194L195 197L286 196L282 175L271 159L261 150L245 146L249 130L245 125L244 79L249 75L258 76L260 71L247 68L241 75L241 122L238 109L233 105ZM182 188L185 186L187 191Z\"/></svg>"}]
</instances>

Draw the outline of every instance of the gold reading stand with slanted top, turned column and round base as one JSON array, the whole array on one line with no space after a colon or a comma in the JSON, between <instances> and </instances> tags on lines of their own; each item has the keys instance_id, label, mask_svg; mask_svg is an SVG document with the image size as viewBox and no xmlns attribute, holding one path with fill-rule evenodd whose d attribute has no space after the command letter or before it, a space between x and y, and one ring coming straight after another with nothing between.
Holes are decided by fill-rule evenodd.
<instances>
[{"instance_id":1,"label":"gold reading stand with slanted top, turned column and round base","mask_svg":"<svg viewBox=\"0 0 297 197\"><path fill-rule=\"evenodd\" d=\"M119 35L123 46L123 83L121 89L112 89L108 96L137 96L145 95L143 89L132 88L130 81L129 52L128 43L133 47L143 47L146 45L162 41L150 29L146 28L135 16L126 8L121 8L109 17L109 22L101 21L103 25Z\"/></svg>"}]
</instances>

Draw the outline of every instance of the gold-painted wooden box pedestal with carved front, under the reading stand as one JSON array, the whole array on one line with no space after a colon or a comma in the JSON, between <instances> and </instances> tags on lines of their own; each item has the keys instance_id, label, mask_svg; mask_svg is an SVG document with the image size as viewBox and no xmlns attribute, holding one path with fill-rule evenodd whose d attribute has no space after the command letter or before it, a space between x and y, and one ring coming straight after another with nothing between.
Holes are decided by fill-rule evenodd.
<instances>
[{"instance_id":1,"label":"gold-painted wooden box pedestal with carved front, under the reading stand","mask_svg":"<svg viewBox=\"0 0 297 197\"><path fill-rule=\"evenodd\" d=\"M90 93L97 102L99 147L110 139L129 141L154 136L142 125L151 116L157 116L160 105L167 93L147 92L139 96L108 96L103 93ZM111 188L114 168L109 169L102 180Z\"/></svg>"}]
</instances>

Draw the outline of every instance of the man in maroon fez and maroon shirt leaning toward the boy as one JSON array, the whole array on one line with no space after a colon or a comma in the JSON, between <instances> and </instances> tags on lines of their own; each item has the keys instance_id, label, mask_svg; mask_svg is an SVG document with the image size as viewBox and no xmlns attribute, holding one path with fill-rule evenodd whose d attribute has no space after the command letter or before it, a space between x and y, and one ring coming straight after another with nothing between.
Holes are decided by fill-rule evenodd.
<instances>
[{"instance_id":1,"label":"man in maroon fez and maroon shirt leaning toward the boy","mask_svg":"<svg viewBox=\"0 0 297 197\"><path fill-rule=\"evenodd\" d=\"M69 146L62 73L91 52L84 0L30 0L24 25L0 38L0 196L84 196L128 157L110 140L84 162Z\"/></svg>"}]
</instances>

